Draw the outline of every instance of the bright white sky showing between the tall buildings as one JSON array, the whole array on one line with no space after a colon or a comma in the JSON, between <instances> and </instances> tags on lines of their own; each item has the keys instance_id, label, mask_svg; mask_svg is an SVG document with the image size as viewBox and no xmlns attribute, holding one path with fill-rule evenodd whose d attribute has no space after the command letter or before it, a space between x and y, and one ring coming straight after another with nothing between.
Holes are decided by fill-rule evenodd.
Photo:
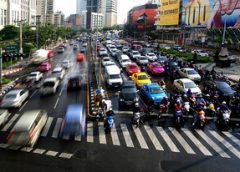
<instances>
[{"instance_id":1,"label":"bright white sky showing between the tall buildings","mask_svg":"<svg viewBox=\"0 0 240 172\"><path fill-rule=\"evenodd\" d=\"M118 24L127 20L127 12L134 6L142 5L148 0L118 0ZM76 0L55 0L55 11L59 10L65 17L76 13Z\"/></svg>"}]
</instances>

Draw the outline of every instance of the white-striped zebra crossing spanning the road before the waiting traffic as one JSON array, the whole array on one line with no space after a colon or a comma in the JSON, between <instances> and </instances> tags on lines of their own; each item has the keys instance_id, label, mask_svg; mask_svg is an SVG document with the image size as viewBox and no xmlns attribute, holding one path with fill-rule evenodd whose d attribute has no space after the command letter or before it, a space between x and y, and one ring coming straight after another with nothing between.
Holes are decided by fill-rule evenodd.
<instances>
[{"instance_id":1,"label":"white-striped zebra crossing spanning the road before the waiting traffic","mask_svg":"<svg viewBox=\"0 0 240 172\"><path fill-rule=\"evenodd\" d=\"M18 114L13 115L1 128L1 132L10 132L18 117ZM59 139L62 121L62 118L49 117L42 130L41 137ZM62 139L70 140L70 136L63 135ZM151 149L202 156L218 155L222 158L240 159L240 140L233 133L215 130L202 131L188 128L177 130L173 127L163 128L148 124L135 128L130 123L120 122L113 125L110 134L106 134L103 122L88 121L85 139L78 135L73 140L144 150ZM7 146L2 144L0 147L6 148Z\"/></svg>"}]
</instances>

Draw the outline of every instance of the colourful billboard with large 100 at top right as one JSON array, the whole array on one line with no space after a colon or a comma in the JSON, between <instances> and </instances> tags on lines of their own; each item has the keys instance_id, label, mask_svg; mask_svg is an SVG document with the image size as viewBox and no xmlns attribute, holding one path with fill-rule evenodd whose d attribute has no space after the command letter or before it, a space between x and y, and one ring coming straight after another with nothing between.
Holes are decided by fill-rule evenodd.
<instances>
[{"instance_id":1,"label":"colourful billboard with large 100 at top right","mask_svg":"<svg viewBox=\"0 0 240 172\"><path fill-rule=\"evenodd\" d=\"M187 27L240 28L239 0L183 0L181 23Z\"/></svg>"}]
</instances>

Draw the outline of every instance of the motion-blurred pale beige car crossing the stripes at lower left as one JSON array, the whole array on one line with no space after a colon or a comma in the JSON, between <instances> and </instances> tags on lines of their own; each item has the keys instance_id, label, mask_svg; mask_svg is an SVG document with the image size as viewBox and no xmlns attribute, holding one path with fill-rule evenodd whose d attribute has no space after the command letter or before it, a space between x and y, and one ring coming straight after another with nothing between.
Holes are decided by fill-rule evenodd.
<instances>
[{"instance_id":1,"label":"motion-blurred pale beige car crossing the stripes at lower left","mask_svg":"<svg viewBox=\"0 0 240 172\"><path fill-rule=\"evenodd\" d=\"M10 146L34 147L48 119L45 110L24 112L7 136Z\"/></svg>"}]
</instances>

